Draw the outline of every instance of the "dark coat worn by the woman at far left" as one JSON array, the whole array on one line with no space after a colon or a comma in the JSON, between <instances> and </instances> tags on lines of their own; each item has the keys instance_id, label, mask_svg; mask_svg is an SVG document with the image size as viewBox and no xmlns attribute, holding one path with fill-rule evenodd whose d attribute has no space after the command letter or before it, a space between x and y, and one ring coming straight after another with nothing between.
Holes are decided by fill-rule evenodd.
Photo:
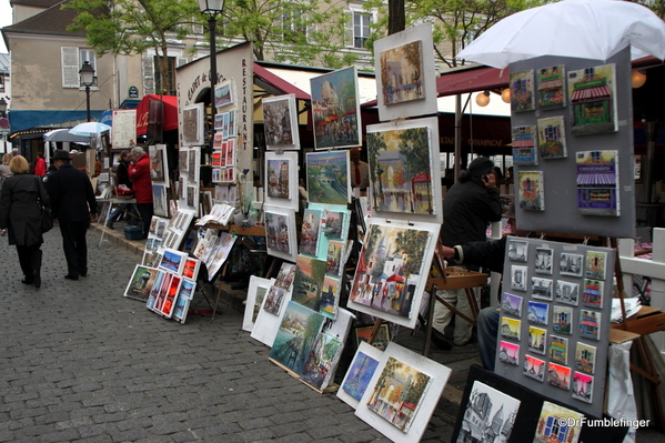
<instances>
[{"instance_id":1,"label":"dark coat worn by the woman at far left","mask_svg":"<svg viewBox=\"0 0 665 443\"><path fill-rule=\"evenodd\" d=\"M49 194L36 175L14 174L2 184L0 228L8 229L9 244L30 246L43 243L38 199L49 207Z\"/></svg>"}]
</instances>

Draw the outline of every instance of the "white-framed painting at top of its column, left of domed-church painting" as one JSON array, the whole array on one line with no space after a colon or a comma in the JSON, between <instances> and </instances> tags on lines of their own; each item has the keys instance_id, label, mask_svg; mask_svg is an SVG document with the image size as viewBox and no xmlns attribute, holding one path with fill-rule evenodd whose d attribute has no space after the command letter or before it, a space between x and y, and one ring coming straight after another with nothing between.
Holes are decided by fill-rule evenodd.
<instances>
[{"instance_id":1,"label":"white-framed painting at top of its column, left of domed-church painting","mask_svg":"<svg viewBox=\"0 0 665 443\"><path fill-rule=\"evenodd\" d=\"M298 133L298 109L295 94L262 99L265 147L275 149L300 149Z\"/></svg>"}]
</instances>

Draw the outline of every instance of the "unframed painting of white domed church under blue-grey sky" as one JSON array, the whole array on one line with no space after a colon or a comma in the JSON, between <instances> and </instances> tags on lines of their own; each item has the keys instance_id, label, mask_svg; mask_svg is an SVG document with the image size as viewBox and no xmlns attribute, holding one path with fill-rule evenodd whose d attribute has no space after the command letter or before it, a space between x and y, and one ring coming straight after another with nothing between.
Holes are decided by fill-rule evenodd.
<instances>
[{"instance_id":1,"label":"unframed painting of white domed church under blue-grey sky","mask_svg":"<svg viewBox=\"0 0 665 443\"><path fill-rule=\"evenodd\" d=\"M361 145L356 68L314 77L310 85L315 149Z\"/></svg>"}]
</instances>

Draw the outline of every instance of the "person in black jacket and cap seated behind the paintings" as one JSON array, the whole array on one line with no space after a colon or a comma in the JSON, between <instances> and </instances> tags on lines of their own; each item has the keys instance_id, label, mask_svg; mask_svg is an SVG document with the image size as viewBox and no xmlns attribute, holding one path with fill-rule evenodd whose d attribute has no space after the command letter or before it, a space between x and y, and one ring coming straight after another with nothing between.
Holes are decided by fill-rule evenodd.
<instances>
[{"instance_id":1,"label":"person in black jacket and cap seated behind the paintings","mask_svg":"<svg viewBox=\"0 0 665 443\"><path fill-rule=\"evenodd\" d=\"M478 157L468 164L468 170L460 174L459 182L445 194L443 202L443 228L441 241L444 246L485 241L488 222L500 221L502 215L501 199L496 189L494 163ZM477 270L475 266L470 266ZM437 295L454 305L460 312L472 318L471 308L464 289L437 291ZM432 326L444 333L453 313L442 303L434 305ZM454 344L464 345L472 336L473 325L467 321L455 319Z\"/></svg>"}]
</instances>

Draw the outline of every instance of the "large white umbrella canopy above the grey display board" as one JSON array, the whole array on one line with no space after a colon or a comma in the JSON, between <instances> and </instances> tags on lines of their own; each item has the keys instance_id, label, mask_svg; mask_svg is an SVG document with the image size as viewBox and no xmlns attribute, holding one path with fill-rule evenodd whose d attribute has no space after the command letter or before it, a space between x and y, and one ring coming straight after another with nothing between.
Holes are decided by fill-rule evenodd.
<instances>
[{"instance_id":1,"label":"large white umbrella canopy above the grey display board","mask_svg":"<svg viewBox=\"0 0 665 443\"><path fill-rule=\"evenodd\" d=\"M607 60L627 46L633 59L665 59L665 22L629 1L563 0L506 17L456 58L503 69L541 56Z\"/></svg>"}]
</instances>

